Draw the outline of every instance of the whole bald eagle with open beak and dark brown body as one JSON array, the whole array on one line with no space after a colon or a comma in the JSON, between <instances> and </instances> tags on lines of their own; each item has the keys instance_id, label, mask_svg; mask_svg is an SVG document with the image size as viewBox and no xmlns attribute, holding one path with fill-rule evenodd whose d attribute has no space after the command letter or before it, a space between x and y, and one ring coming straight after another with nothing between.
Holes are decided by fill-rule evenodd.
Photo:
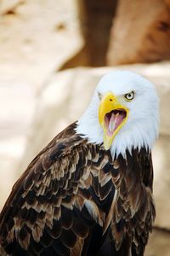
<instances>
[{"instance_id":1,"label":"whole bald eagle with open beak and dark brown body","mask_svg":"<svg viewBox=\"0 0 170 256\"><path fill-rule=\"evenodd\" d=\"M0 255L143 255L156 216L153 84L100 79L82 117L31 161L0 215Z\"/></svg>"}]
</instances>

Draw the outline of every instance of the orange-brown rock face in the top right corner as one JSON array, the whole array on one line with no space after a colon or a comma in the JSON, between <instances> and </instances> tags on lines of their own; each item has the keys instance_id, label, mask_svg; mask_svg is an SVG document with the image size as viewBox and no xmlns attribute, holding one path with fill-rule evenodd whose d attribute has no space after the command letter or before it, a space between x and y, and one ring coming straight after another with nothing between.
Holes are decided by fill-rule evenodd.
<instances>
[{"instance_id":1,"label":"orange-brown rock face in the top right corner","mask_svg":"<svg viewBox=\"0 0 170 256\"><path fill-rule=\"evenodd\" d=\"M119 0L111 29L108 64L170 59L170 2Z\"/></svg>"}]
</instances>

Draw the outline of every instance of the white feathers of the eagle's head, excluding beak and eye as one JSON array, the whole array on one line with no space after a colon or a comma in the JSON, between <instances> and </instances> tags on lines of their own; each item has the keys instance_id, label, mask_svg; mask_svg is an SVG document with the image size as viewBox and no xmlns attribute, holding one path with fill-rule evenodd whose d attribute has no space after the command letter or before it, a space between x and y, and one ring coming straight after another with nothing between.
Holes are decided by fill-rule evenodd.
<instances>
[{"instance_id":1,"label":"white feathers of the eagle's head, excluding beak and eye","mask_svg":"<svg viewBox=\"0 0 170 256\"><path fill-rule=\"evenodd\" d=\"M133 101L127 102L124 95L134 91ZM77 133L87 138L89 143L103 143L104 131L99 125L99 96L113 93L129 109L126 123L111 143L113 157L132 148L149 148L158 136L159 100L156 89L149 80L129 71L115 71L100 79L88 109L77 122Z\"/></svg>"}]
</instances>

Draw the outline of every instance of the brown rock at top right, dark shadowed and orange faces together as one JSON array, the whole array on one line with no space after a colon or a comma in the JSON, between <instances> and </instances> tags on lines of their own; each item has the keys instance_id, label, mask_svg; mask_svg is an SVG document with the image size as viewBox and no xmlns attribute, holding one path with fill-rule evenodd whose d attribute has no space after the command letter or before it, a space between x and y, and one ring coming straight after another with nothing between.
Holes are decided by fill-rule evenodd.
<instances>
[{"instance_id":1,"label":"brown rock at top right, dark shadowed and orange faces together","mask_svg":"<svg viewBox=\"0 0 170 256\"><path fill-rule=\"evenodd\" d=\"M62 67L170 59L169 0L77 0L83 47Z\"/></svg>"}]
</instances>

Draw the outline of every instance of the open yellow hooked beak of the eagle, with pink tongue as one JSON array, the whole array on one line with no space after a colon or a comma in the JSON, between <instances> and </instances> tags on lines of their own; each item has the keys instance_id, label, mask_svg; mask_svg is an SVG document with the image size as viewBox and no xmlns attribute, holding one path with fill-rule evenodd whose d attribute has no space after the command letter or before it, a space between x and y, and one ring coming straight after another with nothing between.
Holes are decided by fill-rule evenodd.
<instances>
[{"instance_id":1,"label":"open yellow hooked beak of the eagle, with pink tongue","mask_svg":"<svg viewBox=\"0 0 170 256\"><path fill-rule=\"evenodd\" d=\"M104 130L104 147L108 150L117 132L127 121L128 108L117 101L116 96L108 92L99 105L99 124Z\"/></svg>"}]
</instances>

